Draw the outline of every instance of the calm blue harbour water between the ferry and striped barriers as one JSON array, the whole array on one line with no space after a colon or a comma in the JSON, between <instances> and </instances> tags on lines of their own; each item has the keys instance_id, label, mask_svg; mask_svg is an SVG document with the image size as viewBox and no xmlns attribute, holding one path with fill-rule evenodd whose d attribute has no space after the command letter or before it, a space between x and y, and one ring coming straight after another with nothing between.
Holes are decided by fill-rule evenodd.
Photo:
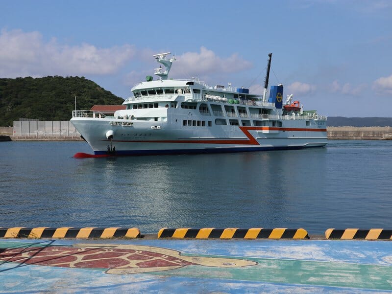
<instances>
[{"instance_id":1,"label":"calm blue harbour water between the ferry and striped barriers","mask_svg":"<svg viewBox=\"0 0 392 294\"><path fill-rule=\"evenodd\" d=\"M392 228L392 141L233 154L72 158L0 143L0 227Z\"/></svg>"}]
</instances>

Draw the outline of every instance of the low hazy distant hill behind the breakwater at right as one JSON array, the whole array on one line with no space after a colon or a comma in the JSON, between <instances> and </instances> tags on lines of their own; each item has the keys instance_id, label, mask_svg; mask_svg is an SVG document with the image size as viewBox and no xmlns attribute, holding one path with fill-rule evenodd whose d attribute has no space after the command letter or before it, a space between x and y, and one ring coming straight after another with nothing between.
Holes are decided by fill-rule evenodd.
<instances>
[{"instance_id":1,"label":"low hazy distant hill behind the breakwater at right","mask_svg":"<svg viewBox=\"0 0 392 294\"><path fill-rule=\"evenodd\" d=\"M392 117L328 116L328 127L392 127Z\"/></svg>"}]
</instances>

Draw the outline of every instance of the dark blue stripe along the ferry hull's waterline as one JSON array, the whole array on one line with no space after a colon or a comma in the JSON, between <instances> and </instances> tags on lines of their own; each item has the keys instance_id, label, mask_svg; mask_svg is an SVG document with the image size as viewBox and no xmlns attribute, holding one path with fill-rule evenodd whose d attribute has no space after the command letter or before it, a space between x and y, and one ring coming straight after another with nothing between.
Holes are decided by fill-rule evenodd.
<instances>
[{"instance_id":1,"label":"dark blue stripe along the ferry hull's waterline","mask_svg":"<svg viewBox=\"0 0 392 294\"><path fill-rule=\"evenodd\" d=\"M294 150L316 148L323 146L282 146L282 147L238 147L238 148L211 148L211 149L171 149L171 150L119 150L112 156L138 156L138 155L176 155L176 154L205 154L205 153L232 153L271 150ZM95 155L106 155L107 151L94 151Z\"/></svg>"}]
</instances>

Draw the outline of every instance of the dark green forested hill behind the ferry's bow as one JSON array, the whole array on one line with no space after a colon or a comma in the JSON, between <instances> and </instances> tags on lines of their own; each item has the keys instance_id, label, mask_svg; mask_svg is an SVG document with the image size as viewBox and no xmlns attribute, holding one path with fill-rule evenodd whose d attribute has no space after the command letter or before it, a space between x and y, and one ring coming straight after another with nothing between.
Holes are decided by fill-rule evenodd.
<instances>
[{"instance_id":1,"label":"dark green forested hill behind the ferry's bow","mask_svg":"<svg viewBox=\"0 0 392 294\"><path fill-rule=\"evenodd\" d=\"M93 105L120 105L120 98L84 77L47 76L43 78L0 79L0 126L13 120L69 120L76 108Z\"/></svg>"}]
</instances>

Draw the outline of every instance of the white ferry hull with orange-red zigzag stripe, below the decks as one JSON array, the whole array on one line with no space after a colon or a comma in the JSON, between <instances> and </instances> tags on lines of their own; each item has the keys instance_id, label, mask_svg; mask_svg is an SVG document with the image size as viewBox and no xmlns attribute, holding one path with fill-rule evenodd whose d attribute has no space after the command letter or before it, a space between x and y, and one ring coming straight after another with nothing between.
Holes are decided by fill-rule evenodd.
<instances>
[{"instance_id":1,"label":"white ferry hull with orange-red zigzag stripe, below the decks","mask_svg":"<svg viewBox=\"0 0 392 294\"><path fill-rule=\"evenodd\" d=\"M206 133L177 129L167 122L132 121L132 125L126 125L129 120L71 121L96 155L107 154L108 147L115 147L116 155L158 155L301 149L327 144L326 129L320 128L214 126ZM113 121L118 125L111 125ZM105 136L110 130L114 133L112 140Z\"/></svg>"}]
</instances>

